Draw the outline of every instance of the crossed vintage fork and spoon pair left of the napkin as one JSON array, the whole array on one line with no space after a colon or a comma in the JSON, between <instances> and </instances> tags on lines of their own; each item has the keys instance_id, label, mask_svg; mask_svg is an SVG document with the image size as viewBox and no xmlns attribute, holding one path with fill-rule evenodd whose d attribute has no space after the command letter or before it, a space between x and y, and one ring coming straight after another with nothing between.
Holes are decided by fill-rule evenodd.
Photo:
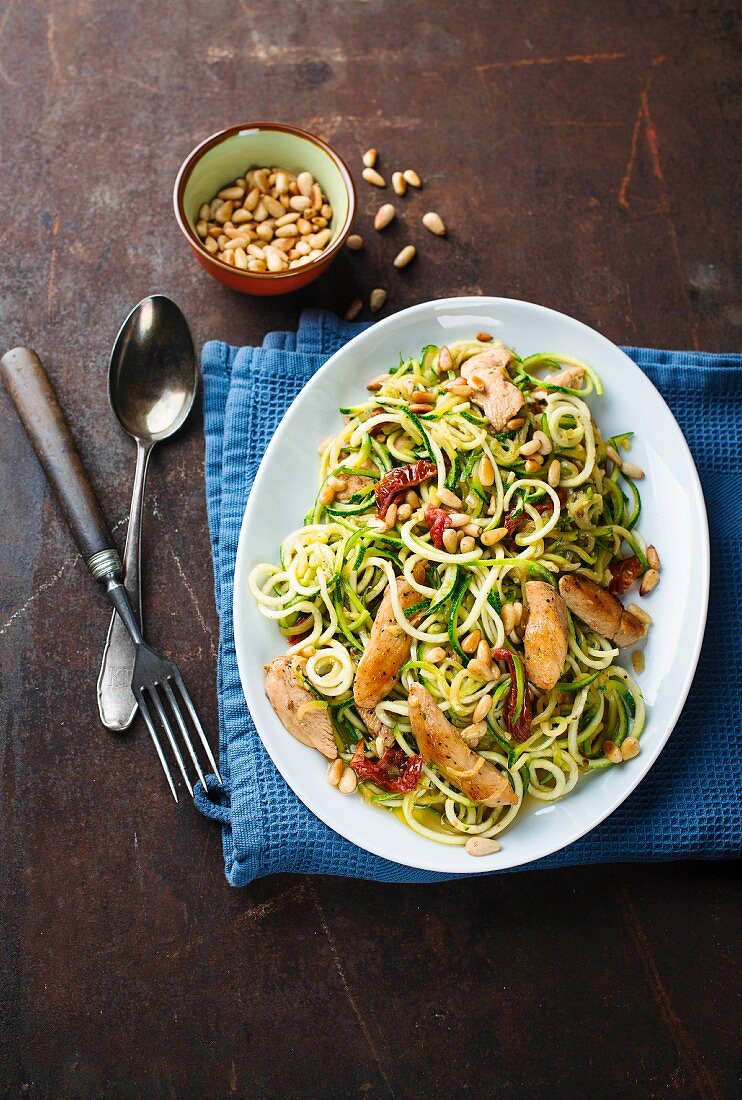
<instances>
[{"instance_id":1,"label":"crossed vintage fork and spoon pair left of the napkin","mask_svg":"<svg viewBox=\"0 0 742 1100\"><path fill-rule=\"evenodd\" d=\"M123 730L141 712L176 802L163 734L191 796L193 773L206 785L204 774L211 771L221 783L180 670L147 646L142 634L140 559L147 463L155 443L185 422L198 383L185 317L163 295L145 298L124 321L111 353L111 408L136 442L123 563L38 355L29 348L14 348L0 359L0 376L80 553L113 605L98 679L101 722L109 729Z\"/></svg>"}]
</instances>

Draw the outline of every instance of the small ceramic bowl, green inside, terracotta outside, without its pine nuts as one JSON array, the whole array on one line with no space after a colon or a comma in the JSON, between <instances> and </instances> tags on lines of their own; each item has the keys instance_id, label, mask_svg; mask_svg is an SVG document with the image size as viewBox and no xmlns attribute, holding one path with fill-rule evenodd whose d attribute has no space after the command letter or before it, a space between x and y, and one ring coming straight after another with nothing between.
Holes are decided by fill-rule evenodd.
<instances>
[{"instance_id":1,"label":"small ceramic bowl, green inside, terracotta outside, without its pine nuts","mask_svg":"<svg viewBox=\"0 0 742 1100\"><path fill-rule=\"evenodd\" d=\"M280 166L311 172L333 209L332 237L322 255L285 272L245 272L212 256L196 233L198 211L222 187L250 168ZM283 122L246 122L220 130L197 145L184 161L173 191L175 217L198 262L220 283L243 294L274 295L298 290L326 271L351 232L355 188L344 161L313 134Z\"/></svg>"}]
</instances>

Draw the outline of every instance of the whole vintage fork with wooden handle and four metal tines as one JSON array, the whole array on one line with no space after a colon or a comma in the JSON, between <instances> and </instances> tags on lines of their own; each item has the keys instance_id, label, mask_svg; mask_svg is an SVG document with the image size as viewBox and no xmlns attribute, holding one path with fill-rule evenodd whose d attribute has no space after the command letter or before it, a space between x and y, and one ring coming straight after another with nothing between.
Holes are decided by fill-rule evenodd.
<instances>
[{"instance_id":1,"label":"whole vintage fork with wooden handle and four metal tines","mask_svg":"<svg viewBox=\"0 0 742 1100\"><path fill-rule=\"evenodd\" d=\"M132 692L163 766L173 798L178 801L173 774L168 767L158 728L164 730L180 774L192 796L178 734L196 774L206 787L204 770L193 747L189 725L198 735L210 768L221 783L221 777L203 727L188 694L180 670L173 661L159 657L146 645L123 584L121 559L113 544L108 525L96 499L92 486L78 454L64 414L41 360L29 348L14 348L0 359L0 375L25 428L44 473L54 488L67 517L80 552L96 581L106 585L106 593L121 616L136 649ZM175 727L174 728L174 722Z\"/></svg>"}]
</instances>

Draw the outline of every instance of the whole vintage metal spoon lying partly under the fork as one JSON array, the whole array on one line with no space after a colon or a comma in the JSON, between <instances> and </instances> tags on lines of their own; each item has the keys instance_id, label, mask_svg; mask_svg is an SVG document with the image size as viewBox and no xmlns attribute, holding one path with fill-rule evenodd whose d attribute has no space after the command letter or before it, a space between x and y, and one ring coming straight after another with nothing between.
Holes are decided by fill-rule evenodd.
<instances>
[{"instance_id":1,"label":"whole vintage metal spoon lying partly under the fork","mask_svg":"<svg viewBox=\"0 0 742 1100\"><path fill-rule=\"evenodd\" d=\"M188 416L198 369L188 322L162 294L151 295L132 309L111 351L108 394L124 431L136 442L136 471L124 547L125 584L140 627L142 510L149 455ZM131 691L134 646L121 618L113 614L98 676L100 721L109 729L126 729L136 713Z\"/></svg>"}]
</instances>

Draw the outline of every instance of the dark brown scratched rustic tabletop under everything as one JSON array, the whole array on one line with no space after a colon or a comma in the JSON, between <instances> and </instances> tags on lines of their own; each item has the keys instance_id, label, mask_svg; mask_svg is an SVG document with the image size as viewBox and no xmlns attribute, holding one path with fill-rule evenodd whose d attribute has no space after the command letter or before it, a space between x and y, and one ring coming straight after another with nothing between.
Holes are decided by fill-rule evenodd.
<instances>
[{"instance_id":1,"label":"dark brown scratched rustic tabletop under everything","mask_svg":"<svg viewBox=\"0 0 742 1100\"><path fill-rule=\"evenodd\" d=\"M122 540L133 447L106 404L118 324L173 296L254 342L374 286L389 309L529 298L620 342L735 350L731 3L0 3L2 346L45 360ZM252 118L359 176L414 166L400 220L290 300L209 280L171 217L180 161ZM389 191L386 193L388 195ZM450 238L416 224L438 209ZM141 728L97 719L108 613L0 395L0 1091L34 1097L731 1096L732 868L412 888L224 882ZM145 605L215 728L199 418L156 457ZM739 1036L738 1036L739 1037ZM739 1093L738 1093L739 1094Z\"/></svg>"}]
</instances>

